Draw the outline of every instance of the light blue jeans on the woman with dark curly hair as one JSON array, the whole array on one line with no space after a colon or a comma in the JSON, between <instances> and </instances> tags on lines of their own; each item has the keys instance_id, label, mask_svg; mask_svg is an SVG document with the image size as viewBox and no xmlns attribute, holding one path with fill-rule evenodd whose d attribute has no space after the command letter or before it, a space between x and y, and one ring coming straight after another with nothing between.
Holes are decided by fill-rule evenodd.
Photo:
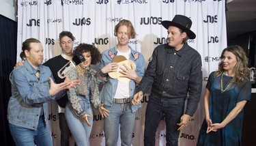
<instances>
[{"instance_id":1,"label":"light blue jeans on the woman with dark curly hair","mask_svg":"<svg viewBox=\"0 0 256 146\"><path fill-rule=\"evenodd\" d=\"M89 98L79 101L79 104L81 104L85 113L87 113L88 115L91 115L91 117L94 116L92 113ZM74 141L76 141L76 145L89 146L89 136L91 134L93 118L88 117L88 121L89 123L91 123L91 126L88 126L85 123L85 121L83 121L83 119L81 119L78 115L76 115L70 103L68 103L68 105L66 106L65 115L66 115L66 120L68 122L68 127L70 128L70 132L74 137Z\"/></svg>"}]
</instances>

